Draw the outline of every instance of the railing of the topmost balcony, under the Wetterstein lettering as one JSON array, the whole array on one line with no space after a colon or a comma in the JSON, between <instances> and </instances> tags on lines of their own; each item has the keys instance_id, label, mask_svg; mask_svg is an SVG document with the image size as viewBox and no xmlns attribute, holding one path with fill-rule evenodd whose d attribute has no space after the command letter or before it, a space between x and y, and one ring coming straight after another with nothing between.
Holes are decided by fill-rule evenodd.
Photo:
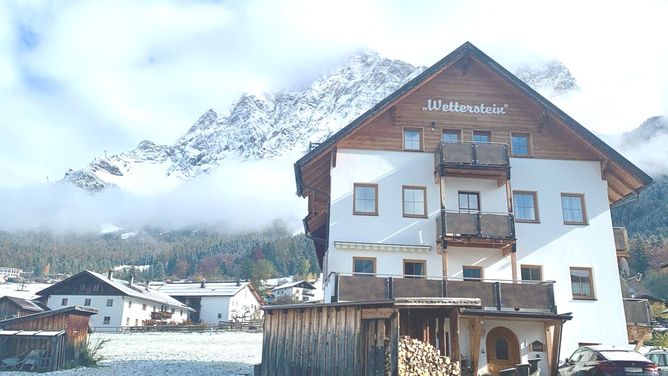
<instances>
[{"instance_id":1,"label":"railing of the topmost balcony, under the Wetterstein lettering","mask_svg":"<svg viewBox=\"0 0 668 376\"><path fill-rule=\"evenodd\" d=\"M441 176L445 175L448 169L492 170L504 172L510 179L508 145L441 141L434 154L434 167Z\"/></svg>"}]
</instances>

